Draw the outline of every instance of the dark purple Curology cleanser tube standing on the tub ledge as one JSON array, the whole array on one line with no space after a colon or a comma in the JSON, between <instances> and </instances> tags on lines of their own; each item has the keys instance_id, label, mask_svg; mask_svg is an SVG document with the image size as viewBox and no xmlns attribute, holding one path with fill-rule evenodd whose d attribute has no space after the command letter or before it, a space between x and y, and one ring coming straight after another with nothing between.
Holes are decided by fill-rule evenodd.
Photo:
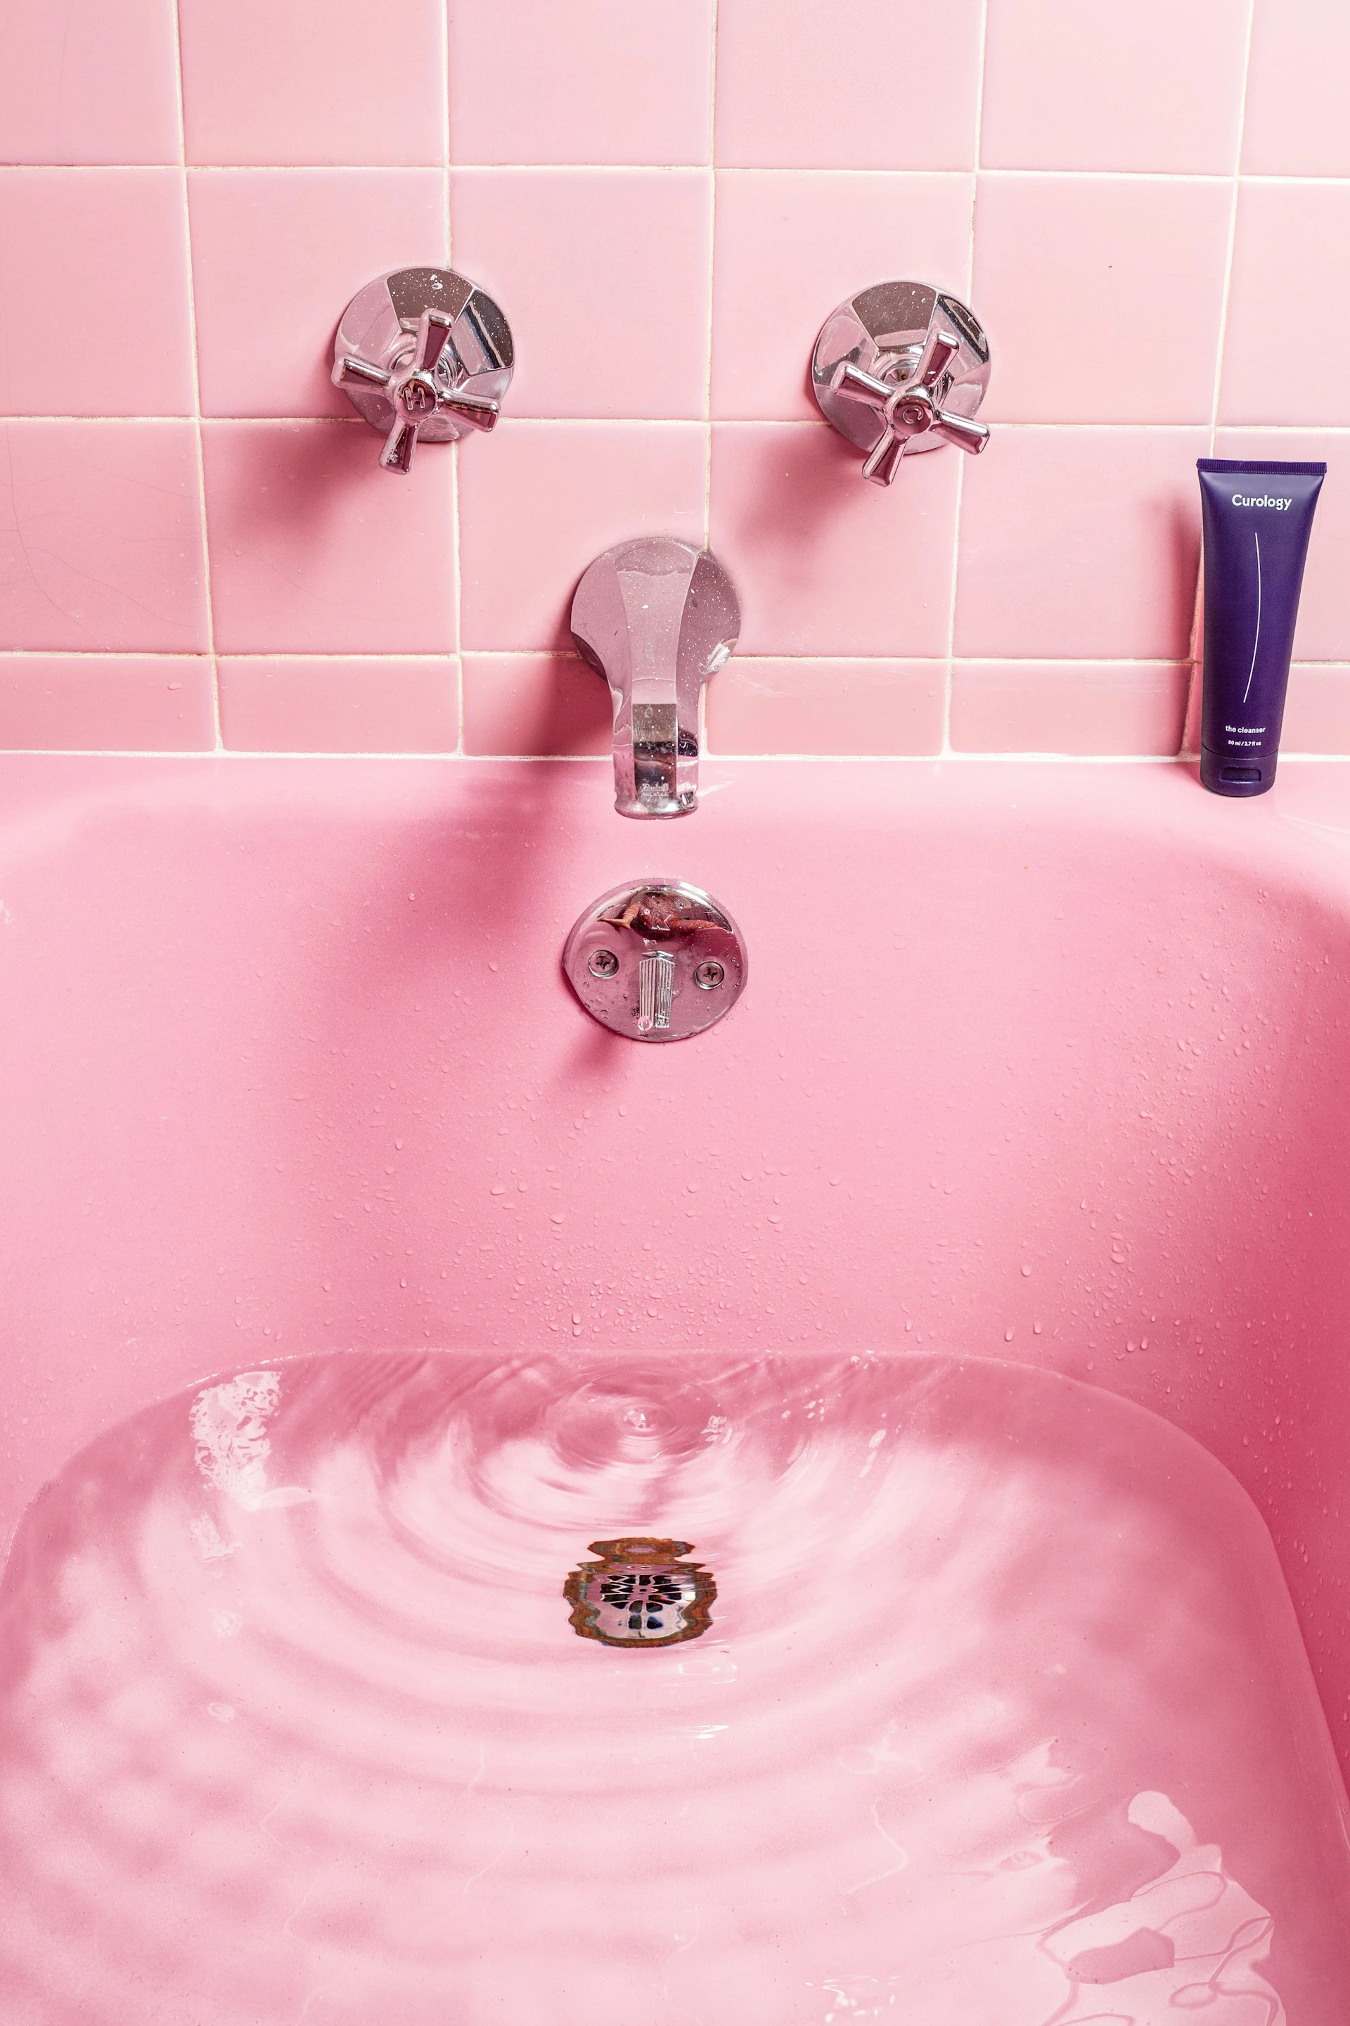
<instances>
[{"instance_id":1,"label":"dark purple Curology cleanser tube standing on the tub ledge","mask_svg":"<svg viewBox=\"0 0 1350 2026\"><path fill-rule=\"evenodd\" d=\"M1210 794L1275 782L1293 622L1326 464L1200 458L1204 705L1200 780Z\"/></svg>"}]
</instances>

